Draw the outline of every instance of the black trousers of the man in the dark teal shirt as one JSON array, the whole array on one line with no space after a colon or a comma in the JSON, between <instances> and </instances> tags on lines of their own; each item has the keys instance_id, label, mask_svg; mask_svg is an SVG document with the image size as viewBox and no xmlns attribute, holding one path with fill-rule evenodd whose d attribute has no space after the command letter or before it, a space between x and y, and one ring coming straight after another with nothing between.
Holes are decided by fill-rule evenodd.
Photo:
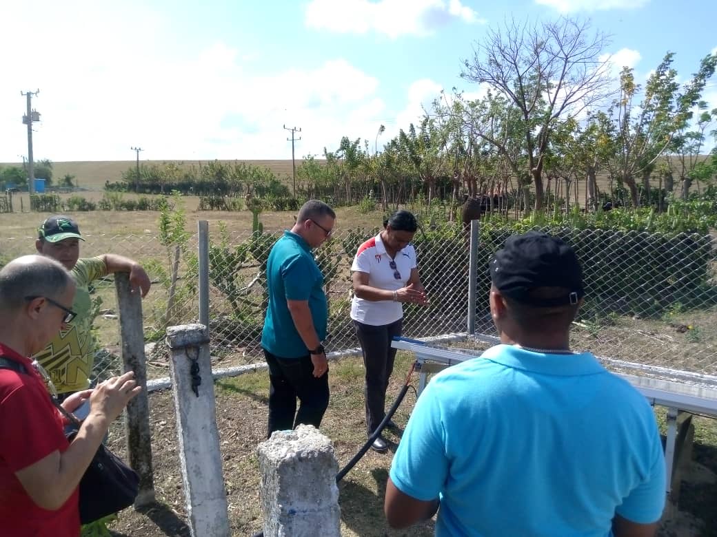
<instances>
[{"instance_id":1,"label":"black trousers of the man in the dark teal shirt","mask_svg":"<svg viewBox=\"0 0 717 537\"><path fill-rule=\"evenodd\" d=\"M318 429L328 407L328 371L318 379L314 377L309 354L286 359L264 349L264 357L269 365L270 382L267 438L274 431L292 430L301 423Z\"/></svg>"}]
</instances>

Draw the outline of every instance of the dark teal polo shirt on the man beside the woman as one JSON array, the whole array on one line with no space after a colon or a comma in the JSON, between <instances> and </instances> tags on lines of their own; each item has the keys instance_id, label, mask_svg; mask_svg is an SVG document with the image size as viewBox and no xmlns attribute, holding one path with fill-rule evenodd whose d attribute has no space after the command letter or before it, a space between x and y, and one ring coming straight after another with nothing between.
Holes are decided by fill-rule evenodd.
<instances>
[{"instance_id":1,"label":"dark teal polo shirt on the man beside the woman","mask_svg":"<svg viewBox=\"0 0 717 537\"><path fill-rule=\"evenodd\" d=\"M320 341L326 339L328 305L323 292L323 274L311 248L291 231L276 241L267 259L269 304L262 329L262 347L280 358L300 358L308 354L294 326L287 300L308 301L314 329Z\"/></svg>"}]
</instances>

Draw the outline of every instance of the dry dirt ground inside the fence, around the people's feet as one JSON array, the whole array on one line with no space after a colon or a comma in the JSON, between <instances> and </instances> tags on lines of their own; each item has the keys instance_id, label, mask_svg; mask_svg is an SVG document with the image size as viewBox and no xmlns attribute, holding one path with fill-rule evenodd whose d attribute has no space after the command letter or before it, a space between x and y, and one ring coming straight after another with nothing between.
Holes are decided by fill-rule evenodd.
<instances>
[{"instance_id":1,"label":"dry dirt ground inside the fence, around the people's feet","mask_svg":"<svg viewBox=\"0 0 717 537\"><path fill-rule=\"evenodd\" d=\"M389 387L389 400L397 395L409 369L410 358L399 354ZM362 366L359 359L343 359L331 365L331 404L322 423L333 440L336 458L343 467L359 450L364 432ZM417 384L414 376L413 384ZM224 480L233 536L253 535L262 528L260 475L256 447L264 440L267 416L267 376L264 372L224 379L215 384L217 425L222 449ZM407 422L415 396L409 391L395 421ZM155 488L158 504L141 512L120 513L110 528L116 537L189 536L179 456L176 449L174 404L170 391L150 395ZM658 419L661 418L658 409ZM392 531L383 515L383 498L400 430L387 433L391 450L386 455L369 451L339 485L343 536L432 536L429 521L409 531ZM110 445L123 453L123 430L115 424ZM695 418L694 462L680 491L679 511L669 513L660 536L717 536L717 422Z\"/></svg>"}]
</instances>

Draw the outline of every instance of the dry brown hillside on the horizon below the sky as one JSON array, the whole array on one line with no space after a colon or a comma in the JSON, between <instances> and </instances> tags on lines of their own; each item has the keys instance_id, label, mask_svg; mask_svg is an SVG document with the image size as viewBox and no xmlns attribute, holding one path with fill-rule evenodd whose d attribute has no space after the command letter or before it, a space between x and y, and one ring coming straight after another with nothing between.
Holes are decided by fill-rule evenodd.
<instances>
[{"instance_id":1,"label":"dry brown hillside on the horizon below the sky","mask_svg":"<svg viewBox=\"0 0 717 537\"><path fill-rule=\"evenodd\" d=\"M140 160L140 165L148 164L162 164L172 162L171 160ZM176 160L175 162L184 163L186 165L199 165L199 160ZM202 160L201 164L204 165L210 162L209 160ZM244 162L252 166L259 168L270 168L278 178L291 178L291 160L220 160L222 163L234 163ZM296 166L303 161L300 159L296 160ZM22 163L0 163L0 168L4 166L22 166ZM85 162L53 162L52 163L52 178L54 183L60 178L64 177L67 173L75 175L75 179L79 183L80 188L87 188L89 190L102 190L105 186L105 181L118 181L122 178L122 173L128 168L134 168L136 166L136 160L96 160L96 161L85 161Z\"/></svg>"}]
</instances>

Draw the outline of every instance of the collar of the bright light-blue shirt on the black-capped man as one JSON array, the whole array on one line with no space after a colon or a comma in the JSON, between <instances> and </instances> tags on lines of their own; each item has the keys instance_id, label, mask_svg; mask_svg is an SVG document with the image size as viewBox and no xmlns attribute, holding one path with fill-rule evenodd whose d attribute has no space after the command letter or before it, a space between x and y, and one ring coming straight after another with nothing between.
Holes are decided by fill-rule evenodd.
<instances>
[{"instance_id":1,"label":"collar of the bright light-blue shirt on the black-capped man","mask_svg":"<svg viewBox=\"0 0 717 537\"><path fill-rule=\"evenodd\" d=\"M607 369L589 352L579 354L541 354L521 349L514 345L500 344L490 347L481 357L513 369L523 369L533 373L552 374L561 377L607 372Z\"/></svg>"}]
</instances>

